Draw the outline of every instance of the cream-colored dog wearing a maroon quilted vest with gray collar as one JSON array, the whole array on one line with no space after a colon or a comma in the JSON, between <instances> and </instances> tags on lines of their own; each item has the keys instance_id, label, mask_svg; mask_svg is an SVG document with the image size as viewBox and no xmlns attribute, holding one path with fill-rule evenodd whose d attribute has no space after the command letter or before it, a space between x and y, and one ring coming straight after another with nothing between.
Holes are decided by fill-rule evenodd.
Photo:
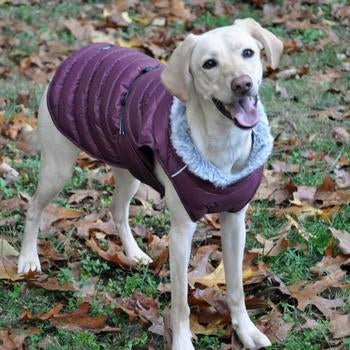
<instances>
[{"instance_id":1,"label":"cream-colored dog wearing a maroon quilted vest with gray collar","mask_svg":"<svg viewBox=\"0 0 350 350\"><path fill-rule=\"evenodd\" d=\"M95 156L112 164L113 174L118 179L111 212L126 255L137 262L148 264L151 258L138 247L132 236L128 224L130 200L140 180L165 195L171 218L172 349L194 349L187 303L191 241L196 220L215 210L220 212L226 298L233 328L245 348L259 349L271 345L249 318L242 282L245 213L259 185L262 166L273 143L258 99L263 73L262 49L265 49L271 67L276 68L283 51L282 42L251 18L236 20L231 26L201 35L189 34L165 67L153 59L146 59L145 55L137 56L135 60L141 62L144 59L146 63L139 63L141 68L136 75L125 75L128 83L123 81L113 88L115 96L105 90L111 89L114 81L118 84L118 79L110 82L107 79L118 76L119 73L115 72L120 67L114 68L106 63L110 65L108 74L102 76L102 73L90 70L89 77L77 78L72 86L67 82L70 79L62 77L68 74L65 70L68 71L69 65L71 70L74 70L74 64L76 69L81 67L81 63L75 63L78 58L59 68L58 78L54 78L45 91L39 107L40 176L28 208L18 272L41 271L36 244L41 213L70 178L80 148L89 153L95 151ZM90 51L81 51L86 53L85 56L104 55L103 60L120 54L119 48L105 44L86 50ZM125 51L130 65L134 56L129 54ZM92 58L92 63L87 61L90 62L90 58L85 58L87 66L98 68L99 64ZM133 68L130 71L134 72ZM113 69L116 71L112 74ZM103 84L96 85L99 74L100 81L104 79ZM63 80L59 80L60 77ZM88 85L90 90L87 90ZM136 96L138 89L143 94L142 102ZM85 98L84 93L89 96ZM166 107L157 107L160 100L165 101ZM142 125L144 121L145 111L152 115L151 122L147 119L147 123L161 128L158 134L150 132L148 124L142 126L142 130L136 130L138 123ZM91 116L95 118L93 121L87 119L90 114L94 115ZM73 117L76 119L70 122ZM114 122L111 124L110 120ZM82 124L73 127L71 123ZM89 136L84 141L87 134L93 139ZM107 137L112 139L107 140ZM130 146L131 139L134 143ZM117 154L118 147L124 147L124 143L127 144L126 158L132 163L130 168L124 160L113 158L113 152ZM100 154L101 149L105 154ZM108 153L111 150L113 152ZM197 189L197 185L202 188Z\"/></svg>"}]
</instances>

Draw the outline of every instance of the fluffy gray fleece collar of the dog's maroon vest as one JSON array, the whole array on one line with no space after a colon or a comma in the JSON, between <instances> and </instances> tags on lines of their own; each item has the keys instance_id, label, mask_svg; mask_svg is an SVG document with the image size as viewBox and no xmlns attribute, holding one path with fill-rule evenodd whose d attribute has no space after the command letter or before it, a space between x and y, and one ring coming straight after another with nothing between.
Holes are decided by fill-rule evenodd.
<instances>
[{"instance_id":1,"label":"fluffy gray fleece collar of the dog's maroon vest","mask_svg":"<svg viewBox=\"0 0 350 350\"><path fill-rule=\"evenodd\" d=\"M202 156L192 141L186 119L186 106L176 97L174 97L170 113L170 139L172 145L177 155L193 174L202 180L211 182L215 187L231 185L261 167L271 154L273 137L264 107L260 101L258 102L257 110L260 115L260 121L253 128L252 149L245 167L238 173L226 173ZM176 175L174 174L173 176Z\"/></svg>"}]
</instances>

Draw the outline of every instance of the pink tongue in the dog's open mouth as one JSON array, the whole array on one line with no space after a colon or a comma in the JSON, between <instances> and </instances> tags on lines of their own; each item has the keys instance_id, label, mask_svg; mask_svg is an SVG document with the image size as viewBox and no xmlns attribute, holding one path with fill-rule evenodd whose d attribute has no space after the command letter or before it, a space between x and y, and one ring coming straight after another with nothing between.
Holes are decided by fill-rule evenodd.
<instances>
[{"instance_id":1,"label":"pink tongue in the dog's open mouth","mask_svg":"<svg viewBox=\"0 0 350 350\"><path fill-rule=\"evenodd\" d=\"M259 120L255 99L248 96L241 98L231 109L231 115L241 128L252 128Z\"/></svg>"}]
</instances>

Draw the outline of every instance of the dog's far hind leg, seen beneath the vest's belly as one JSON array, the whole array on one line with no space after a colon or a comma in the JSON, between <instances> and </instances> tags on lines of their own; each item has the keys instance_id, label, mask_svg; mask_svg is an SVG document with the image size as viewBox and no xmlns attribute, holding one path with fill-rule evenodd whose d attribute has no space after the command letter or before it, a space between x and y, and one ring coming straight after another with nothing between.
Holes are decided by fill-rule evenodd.
<instances>
[{"instance_id":1,"label":"dog's far hind leg, seen beneath the vest's belly","mask_svg":"<svg viewBox=\"0 0 350 350\"><path fill-rule=\"evenodd\" d=\"M126 169L112 168L112 170L116 179L116 189L113 193L111 212L125 254L138 263L149 264L152 259L137 245L129 226L129 204L140 185L140 181Z\"/></svg>"}]
</instances>

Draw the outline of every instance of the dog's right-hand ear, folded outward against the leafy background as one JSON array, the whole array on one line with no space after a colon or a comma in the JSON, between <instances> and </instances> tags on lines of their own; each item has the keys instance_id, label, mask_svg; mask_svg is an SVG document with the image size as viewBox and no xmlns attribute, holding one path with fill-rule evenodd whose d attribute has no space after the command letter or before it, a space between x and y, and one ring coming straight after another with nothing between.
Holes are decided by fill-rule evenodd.
<instances>
[{"instance_id":1,"label":"dog's right-hand ear, folded outward against the leafy background","mask_svg":"<svg viewBox=\"0 0 350 350\"><path fill-rule=\"evenodd\" d=\"M271 67L276 69L283 51L282 41L270 31L264 29L253 18L237 19L234 25L244 27L253 38L264 46Z\"/></svg>"}]
</instances>

